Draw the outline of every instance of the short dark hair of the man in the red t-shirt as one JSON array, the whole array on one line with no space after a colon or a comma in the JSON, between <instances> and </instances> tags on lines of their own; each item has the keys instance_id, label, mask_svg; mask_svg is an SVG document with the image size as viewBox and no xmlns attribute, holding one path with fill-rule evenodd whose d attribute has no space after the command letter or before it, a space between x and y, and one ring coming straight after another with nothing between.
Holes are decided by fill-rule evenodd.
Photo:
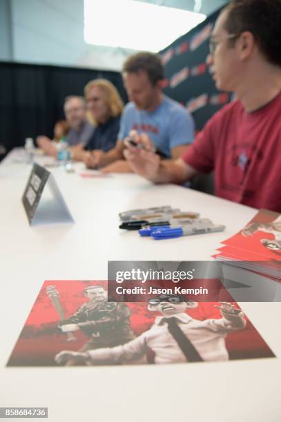
<instances>
[{"instance_id":1,"label":"short dark hair of the man in the red t-shirt","mask_svg":"<svg viewBox=\"0 0 281 422\"><path fill-rule=\"evenodd\" d=\"M281 0L233 0L224 10L224 29L229 34L251 32L267 61L281 67Z\"/></svg>"}]
</instances>

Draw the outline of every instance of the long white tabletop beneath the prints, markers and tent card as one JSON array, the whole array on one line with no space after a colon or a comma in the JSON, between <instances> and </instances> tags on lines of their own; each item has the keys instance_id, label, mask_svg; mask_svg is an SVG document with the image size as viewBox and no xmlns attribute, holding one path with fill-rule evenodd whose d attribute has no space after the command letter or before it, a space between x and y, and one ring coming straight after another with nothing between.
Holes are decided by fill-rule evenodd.
<instances>
[{"instance_id":1,"label":"long white tabletop beneath the prints, markers and tent card","mask_svg":"<svg viewBox=\"0 0 281 422\"><path fill-rule=\"evenodd\" d=\"M75 224L30 228L21 196L31 166L12 157L0 165L0 406L48 406L50 421L281 420L280 359L5 368L44 280L106 279L110 260L208 260L220 241L256 212L179 186L153 185L135 174L84 179L54 169ZM166 204L200 212L226 230L154 241L118 229L118 212ZM243 303L242 308L280 356L281 304Z\"/></svg>"}]
</instances>

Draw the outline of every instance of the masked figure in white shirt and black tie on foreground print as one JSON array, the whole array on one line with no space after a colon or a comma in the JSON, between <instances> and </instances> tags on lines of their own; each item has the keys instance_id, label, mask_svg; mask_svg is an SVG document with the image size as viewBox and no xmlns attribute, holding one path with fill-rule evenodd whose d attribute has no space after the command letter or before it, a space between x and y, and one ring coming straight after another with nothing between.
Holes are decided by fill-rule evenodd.
<instances>
[{"instance_id":1,"label":"masked figure in white shirt and black tie on foreground print","mask_svg":"<svg viewBox=\"0 0 281 422\"><path fill-rule=\"evenodd\" d=\"M151 299L148 310L160 312L155 323L146 332L124 345L114 348L88 350L85 353L64 350L55 356L63 364L75 358L77 363L99 365L126 363L144 356L151 349L155 363L180 363L197 361L226 361L229 354L225 338L229 332L245 327L244 314L232 303L222 302L221 319L199 321L188 316L186 309L196 308L197 302L180 295L160 295Z\"/></svg>"}]
</instances>

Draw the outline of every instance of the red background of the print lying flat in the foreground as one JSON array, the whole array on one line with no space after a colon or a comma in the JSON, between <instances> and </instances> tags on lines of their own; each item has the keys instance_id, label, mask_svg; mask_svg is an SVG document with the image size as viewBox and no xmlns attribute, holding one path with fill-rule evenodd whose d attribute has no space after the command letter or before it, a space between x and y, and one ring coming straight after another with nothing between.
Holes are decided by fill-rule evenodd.
<instances>
[{"instance_id":1,"label":"red background of the print lying flat in the foreground","mask_svg":"<svg viewBox=\"0 0 281 422\"><path fill-rule=\"evenodd\" d=\"M48 285L55 285L59 291L61 305L68 318L87 301L84 296L86 287L101 285L106 288L107 281L45 281L12 351L8 366L55 366L55 354L61 350L77 351L88 340L83 332L77 331L74 333L77 341L69 342L66 334L57 328L59 315L46 294ZM127 305L132 312L131 327L138 336L151 327L157 313L148 311L146 303L127 303ZM188 310L186 313L200 320L220 318L220 310L214 308L214 305L219 305L219 303L199 303L197 308ZM226 337L226 347L229 350L230 359L274 356L249 320L244 330L233 332Z\"/></svg>"}]
</instances>

